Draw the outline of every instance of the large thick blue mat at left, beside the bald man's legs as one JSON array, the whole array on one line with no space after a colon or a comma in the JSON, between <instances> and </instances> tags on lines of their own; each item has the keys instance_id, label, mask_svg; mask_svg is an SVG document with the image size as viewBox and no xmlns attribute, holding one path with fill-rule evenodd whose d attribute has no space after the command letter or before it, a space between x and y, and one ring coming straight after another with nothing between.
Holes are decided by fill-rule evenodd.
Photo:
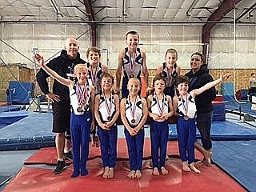
<instances>
[{"instance_id":1,"label":"large thick blue mat at left, beside the bald man's legs","mask_svg":"<svg viewBox=\"0 0 256 192\"><path fill-rule=\"evenodd\" d=\"M52 114L30 114L0 129L0 150L32 150L54 146Z\"/></svg>"}]
</instances>

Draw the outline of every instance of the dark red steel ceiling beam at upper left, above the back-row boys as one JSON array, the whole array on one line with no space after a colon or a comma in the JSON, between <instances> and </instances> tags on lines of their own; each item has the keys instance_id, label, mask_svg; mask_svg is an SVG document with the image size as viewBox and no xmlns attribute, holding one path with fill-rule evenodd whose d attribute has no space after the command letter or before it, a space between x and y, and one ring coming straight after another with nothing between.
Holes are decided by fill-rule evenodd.
<instances>
[{"instance_id":1,"label":"dark red steel ceiling beam at upper left, above the back-row boys","mask_svg":"<svg viewBox=\"0 0 256 192\"><path fill-rule=\"evenodd\" d=\"M95 17L94 17L94 10L91 6L91 1L90 0L83 0L83 3L86 7L86 12L88 14L88 18L90 21L90 28L91 28L91 45L92 46L96 46L96 30L97 30L97 24L94 22L95 21Z\"/></svg>"}]
</instances>

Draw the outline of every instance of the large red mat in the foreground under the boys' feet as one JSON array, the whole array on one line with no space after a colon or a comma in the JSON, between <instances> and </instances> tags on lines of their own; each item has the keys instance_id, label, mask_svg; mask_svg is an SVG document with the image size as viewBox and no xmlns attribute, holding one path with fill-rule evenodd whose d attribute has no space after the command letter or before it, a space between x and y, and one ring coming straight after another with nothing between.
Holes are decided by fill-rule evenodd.
<instances>
[{"instance_id":1,"label":"large red mat in the foreground under the boys' feet","mask_svg":"<svg viewBox=\"0 0 256 192\"><path fill-rule=\"evenodd\" d=\"M87 162L89 175L86 177L70 178L72 166L62 174L54 175L51 169L23 167L14 177L4 192L115 192L115 191L142 191L142 192L239 192L246 191L230 176L218 169L217 166L199 166L201 174L182 172L181 161L178 158L169 158L166 176L153 176L151 160L143 161L142 178L127 178L129 162L118 161L113 179L102 178L101 159L94 158Z\"/></svg>"}]
</instances>

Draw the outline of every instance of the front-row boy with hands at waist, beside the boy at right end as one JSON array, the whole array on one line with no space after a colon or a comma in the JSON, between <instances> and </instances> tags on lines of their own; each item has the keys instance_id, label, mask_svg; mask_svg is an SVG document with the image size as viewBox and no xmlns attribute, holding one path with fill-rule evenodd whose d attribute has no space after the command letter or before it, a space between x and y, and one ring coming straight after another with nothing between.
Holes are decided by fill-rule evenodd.
<instances>
[{"instance_id":1,"label":"front-row boy with hands at waist, beside the boy at right end","mask_svg":"<svg viewBox=\"0 0 256 192\"><path fill-rule=\"evenodd\" d=\"M172 98L164 94L165 78L158 74L153 79L154 93L147 98L149 116L153 118L150 125L151 154L153 175L168 174L166 170L166 149L169 134L168 118L174 115ZM159 157L160 152L160 157Z\"/></svg>"}]
</instances>

